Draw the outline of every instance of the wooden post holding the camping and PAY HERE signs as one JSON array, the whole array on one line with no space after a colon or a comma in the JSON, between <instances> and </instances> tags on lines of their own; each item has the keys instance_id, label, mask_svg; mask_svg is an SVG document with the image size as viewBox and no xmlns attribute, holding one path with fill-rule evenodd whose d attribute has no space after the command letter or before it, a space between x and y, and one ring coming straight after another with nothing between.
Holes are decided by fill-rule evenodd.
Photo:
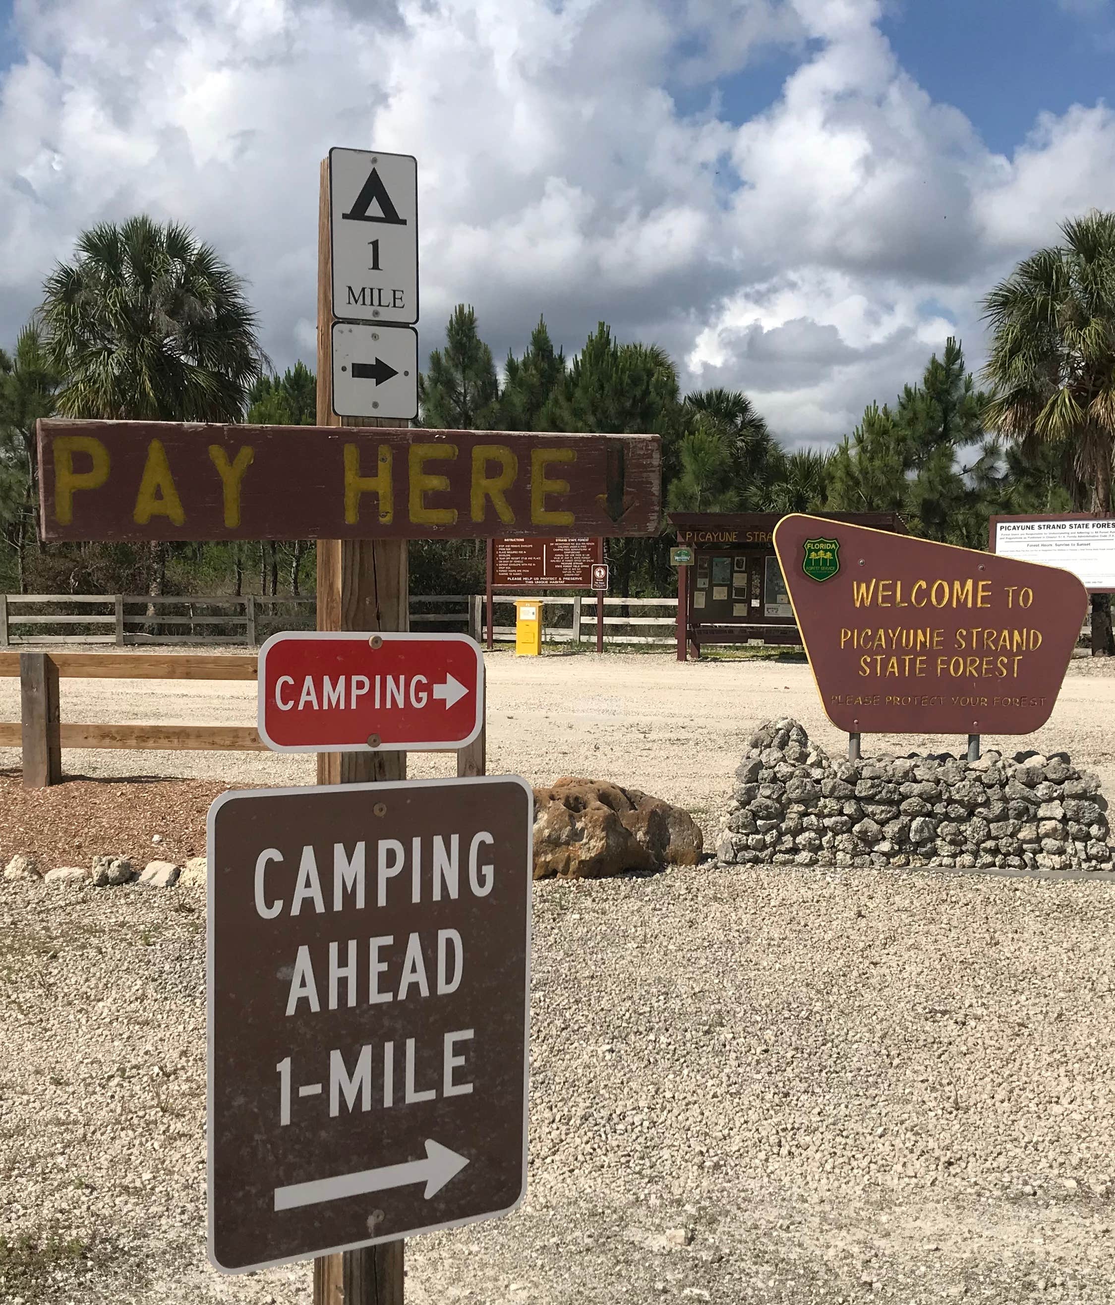
<instances>
[{"instance_id":1,"label":"wooden post holding the camping and PAY HERE signs","mask_svg":"<svg viewBox=\"0 0 1115 1305\"><path fill-rule=\"evenodd\" d=\"M397 425L333 412L332 241L329 159L321 161L317 205L317 424ZM405 539L317 540L317 629L405 630L410 625ZM406 779L405 752L321 752L319 784ZM403 1242L319 1255L313 1305L403 1305Z\"/></svg>"}]
</instances>

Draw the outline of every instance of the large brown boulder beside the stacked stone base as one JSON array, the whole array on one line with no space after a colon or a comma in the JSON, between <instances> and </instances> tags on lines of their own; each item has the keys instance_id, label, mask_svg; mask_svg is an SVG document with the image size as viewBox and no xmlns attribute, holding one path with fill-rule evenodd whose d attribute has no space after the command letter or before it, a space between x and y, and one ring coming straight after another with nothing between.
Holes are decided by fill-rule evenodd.
<instances>
[{"instance_id":1,"label":"large brown boulder beside the stacked stone base","mask_svg":"<svg viewBox=\"0 0 1115 1305\"><path fill-rule=\"evenodd\" d=\"M702 847L688 812L635 788L563 776L550 788L534 790L537 880L696 865Z\"/></svg>"}]
</instances>

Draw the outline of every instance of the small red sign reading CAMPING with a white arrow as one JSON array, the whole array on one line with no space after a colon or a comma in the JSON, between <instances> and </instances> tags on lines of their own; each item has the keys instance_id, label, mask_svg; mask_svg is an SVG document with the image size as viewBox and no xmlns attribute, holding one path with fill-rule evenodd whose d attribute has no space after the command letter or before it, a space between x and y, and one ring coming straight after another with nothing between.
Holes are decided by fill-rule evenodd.
<instances>
[{"instance_id":1,"label":"small red sign reading CAMPING with a white arrow","mask_svg":"<svg viewBox=\"0 0 1115 1305\"><path fill-rule=\"evenodd\" d=\"M259 731L275 752L465 748L484 720L465 634L274 634L260 649Z\"/></svg>"}]
</instances>

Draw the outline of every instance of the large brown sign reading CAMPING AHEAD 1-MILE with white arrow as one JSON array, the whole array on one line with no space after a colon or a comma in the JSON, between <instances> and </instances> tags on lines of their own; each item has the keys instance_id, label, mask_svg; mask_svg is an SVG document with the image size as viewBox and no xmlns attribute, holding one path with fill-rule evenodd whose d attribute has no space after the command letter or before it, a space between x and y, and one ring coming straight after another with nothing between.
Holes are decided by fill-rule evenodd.
<instances>
[{"instance_id":1,"label":"large brown sign reading CAMPING AHEAD 1-MILE with white arrow","mask_svg":"<svg viewBox=\"0 0 1115 1305\"><path fill-rule=\"evenodd\" d=\"M526 1188L533 795L514 775L209 810L209 1253L228 1272Z\"/></svg>"}]
</instances>

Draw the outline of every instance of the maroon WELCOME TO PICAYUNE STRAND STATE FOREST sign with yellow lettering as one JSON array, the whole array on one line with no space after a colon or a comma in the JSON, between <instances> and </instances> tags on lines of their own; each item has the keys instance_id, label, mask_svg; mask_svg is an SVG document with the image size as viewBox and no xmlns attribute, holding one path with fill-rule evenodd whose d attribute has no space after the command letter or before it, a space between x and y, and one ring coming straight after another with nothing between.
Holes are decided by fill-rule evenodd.
<instances>
[{"instance_id":1,"label":"maroon WELCOME TO PICAYUNE STRAND STATE FOREST sign with yellow lettering","mask_svg":"<svg viewBox=\"0 0 1115 1305\"><path fill-rule=\"evenodd\" d=\"M1030 733L1088 609L1064 570L823 517L783 517L778 562L833 724Z\"/></svg>"}]
</instances>

